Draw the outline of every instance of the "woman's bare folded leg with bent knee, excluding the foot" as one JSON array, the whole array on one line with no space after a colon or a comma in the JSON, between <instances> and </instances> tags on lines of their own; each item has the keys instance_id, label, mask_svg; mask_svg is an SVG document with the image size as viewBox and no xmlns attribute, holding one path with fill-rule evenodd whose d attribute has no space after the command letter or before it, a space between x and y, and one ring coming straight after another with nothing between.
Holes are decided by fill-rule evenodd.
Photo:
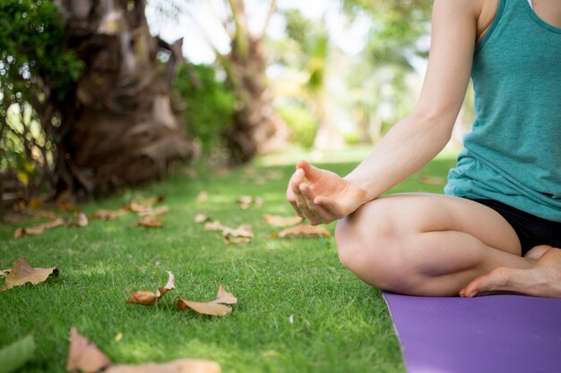
<instances>
[{"instance_id":1,"label":"woman's bare folded leg with bent knee, excluding the foot","mask_svg":"<svg viewBox=\"0 0 561 373\"><path fill-rule=\"evenodd\" d=\"M497 267L531 268L513 228L469 199L398 194L375 199L337 225L344 266L380 289L458 295Z\"/></svg>"}]
</instances>

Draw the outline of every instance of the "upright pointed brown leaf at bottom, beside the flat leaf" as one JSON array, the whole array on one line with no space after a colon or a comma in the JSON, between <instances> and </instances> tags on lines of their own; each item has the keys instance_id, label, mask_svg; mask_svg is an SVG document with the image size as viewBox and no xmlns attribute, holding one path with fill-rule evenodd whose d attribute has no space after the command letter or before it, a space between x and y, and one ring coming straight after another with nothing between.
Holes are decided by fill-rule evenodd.
<instances>
[{"instance_id":1,"label":"upright pointed brown leaf at bottom, beside the flat leaf","mask_svg":"<svg viewBox=\"0 0 561 373\"><path fill-rule=\"evenodd\" d=\"M66 361L66 370L95 373L112 365L111 361L98 347L78 333L73 326L70 329L70 352Z\"/></svg>"}]
</instances>

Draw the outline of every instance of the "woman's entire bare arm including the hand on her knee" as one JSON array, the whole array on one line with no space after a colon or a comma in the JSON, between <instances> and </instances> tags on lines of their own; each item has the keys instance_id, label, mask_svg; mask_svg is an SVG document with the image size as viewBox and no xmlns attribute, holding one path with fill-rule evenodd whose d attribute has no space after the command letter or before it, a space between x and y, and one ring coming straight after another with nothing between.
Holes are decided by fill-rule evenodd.
<instances>
[{"instance_id":1,"label":"woman's entire bare arm including the hand on her knee","mask_svg":"<svg viewBox=\"0 0 561 373\"><path fill-rule=\"evenodd\" d=\"M430 55L419 102L372 154L344 178L299 162L287 197L310 223L347 216L417 172L450 140L470 80L484 0L436 0ZM305 181L307 180L307 182Z\"/></svg>"}]
</instances>

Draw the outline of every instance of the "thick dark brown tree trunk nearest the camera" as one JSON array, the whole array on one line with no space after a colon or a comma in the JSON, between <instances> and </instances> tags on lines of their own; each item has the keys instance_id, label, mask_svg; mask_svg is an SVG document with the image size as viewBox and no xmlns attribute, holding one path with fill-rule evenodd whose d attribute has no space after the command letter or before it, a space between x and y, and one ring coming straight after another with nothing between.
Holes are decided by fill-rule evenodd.
<instances>
[{"instance_id":1,"label":"thick dark brown tree trunk nearest the camera","mask_svg":"<svg viewBox=\"0 0 561 373\"><path fill-rule=\"evenodd\" d=\"M171 106L181 41L151 37L143 0L59 0L70 47L86 64L62 108L59 187L86 193L160 178L192 157ZM158 52L169 55L166 64Z\"/></svg>"}]
</instances>

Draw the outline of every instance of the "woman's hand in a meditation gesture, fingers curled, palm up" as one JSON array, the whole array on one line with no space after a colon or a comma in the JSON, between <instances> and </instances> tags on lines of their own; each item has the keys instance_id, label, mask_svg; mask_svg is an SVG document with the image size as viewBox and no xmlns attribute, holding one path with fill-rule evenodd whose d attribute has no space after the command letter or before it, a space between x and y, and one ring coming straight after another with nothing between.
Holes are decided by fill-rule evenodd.
<instances>
[{"instance_id":1,"label":"woman's hand in a meditation gesture, fingers curled, palm up","mask_svg":"<svg viewBox=\"0 0 561 373\"><path fill-rule=\"evenodd\" d=\"M307 181L307 182L306 182ZM331 223L367 202L366 191L338 174L300 161L289 181L287 199L311 225Z\"/></svg>"}]
</instances>

